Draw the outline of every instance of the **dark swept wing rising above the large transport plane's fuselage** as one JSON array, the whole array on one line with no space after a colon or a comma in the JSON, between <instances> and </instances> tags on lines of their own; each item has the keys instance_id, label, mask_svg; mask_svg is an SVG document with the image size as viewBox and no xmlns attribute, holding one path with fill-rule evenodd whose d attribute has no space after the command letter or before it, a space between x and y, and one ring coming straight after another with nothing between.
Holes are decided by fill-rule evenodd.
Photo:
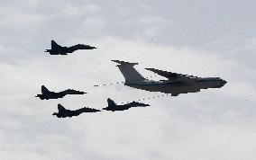
<instances>
[{"instance_id":1,"label":"dark swept wing rising above the large transport plane's fuselage","mask_svg":"<svg viewBox=\"0 0 256 160\"><path fill-rule=\"evenodd\" d=\"M159 70L159 69L155 69L155 68L145 68L145 69L147 69L151 72L154 72L160 76L164 76L171 81L193 81L198 78L197 76L183 75L183 74L163 71L163 70Z\"/></svg>"}]
</instances>

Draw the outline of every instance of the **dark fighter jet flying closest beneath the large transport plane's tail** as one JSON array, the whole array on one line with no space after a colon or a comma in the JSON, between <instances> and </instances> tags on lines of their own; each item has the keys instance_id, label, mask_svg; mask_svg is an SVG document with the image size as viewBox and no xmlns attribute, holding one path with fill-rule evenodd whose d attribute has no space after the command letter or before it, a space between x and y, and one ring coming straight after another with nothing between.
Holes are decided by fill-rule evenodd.
<instances>
[{"instance_id":1,"label":"dark fighter jet flying closest beneath the large transport plane's tail","mask_svg":"<svg viewBox=\"0 0 256 160\"><path fill-rule=\"evenodd\" d=\"M129 102L127 104L117 105L110 98L107 99L107 103L108 103L108 106L103 108L102 110L105 110L105 111L124 111L124 110L128 110L132 107L147 107L147 106L150 106L149 104L144 104L142 102Z\"/></svg>"}]
</instances>

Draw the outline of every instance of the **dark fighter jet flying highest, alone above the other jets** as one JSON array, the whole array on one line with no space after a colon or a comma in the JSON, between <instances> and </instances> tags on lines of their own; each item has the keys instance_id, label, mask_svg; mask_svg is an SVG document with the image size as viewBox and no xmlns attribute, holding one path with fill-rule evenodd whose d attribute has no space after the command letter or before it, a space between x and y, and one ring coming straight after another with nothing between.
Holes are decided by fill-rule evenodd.
<instances>
[{"instance_id":1,"label":"dark fighter jet flying highest, alone above the other jets","mask_svg":"<svg viewBox=\"0 0 256 160\"><path fill-rule=\"evenodd\" d=\"M50 55L68 55L78 49L96 49L95 47L88 46L85 44L77 44L71 47L62 47L57 44L54 40L51 40L51 49L46 49L45 52L49 52Z\"/></svg>"}]
</instances>

